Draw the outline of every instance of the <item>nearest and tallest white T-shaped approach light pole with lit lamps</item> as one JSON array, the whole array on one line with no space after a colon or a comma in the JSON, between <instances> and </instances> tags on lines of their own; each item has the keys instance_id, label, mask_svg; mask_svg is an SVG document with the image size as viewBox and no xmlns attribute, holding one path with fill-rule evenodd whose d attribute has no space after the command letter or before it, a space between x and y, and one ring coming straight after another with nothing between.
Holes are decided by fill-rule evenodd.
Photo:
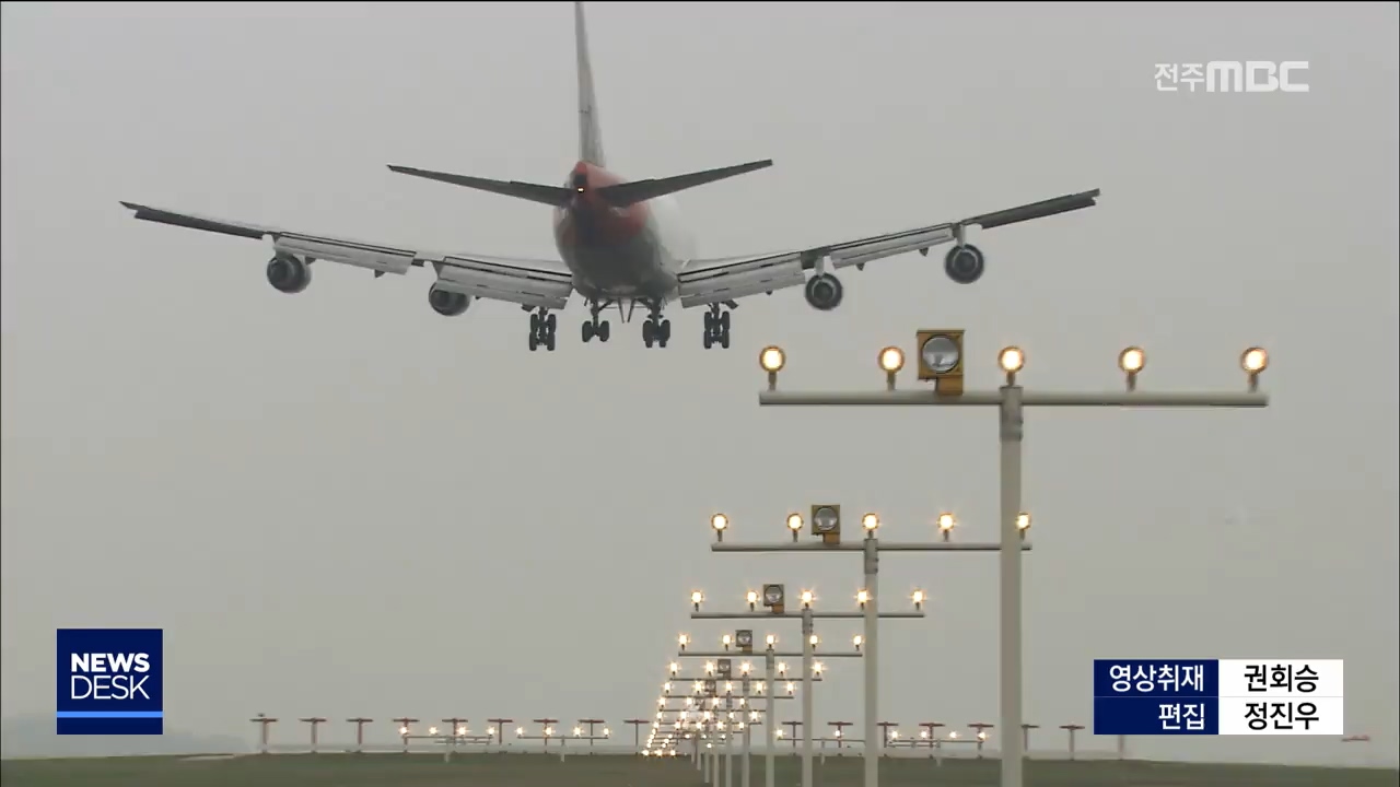
<instances>
[{"instance_id":1,"label":"nearest and tallest white T-shaped approach light pole with lit lamps","mask_svg":"<svg viewBox=\"0 0 1400 787\"><path fill-rule=\"evenodd\" d=\"M885 372L885 391L868 394L794 394L777 389L778 371L787 363L780 347L764 347L759 365L767 374L767 391L759 392L760 406L981 406L1000 413L1001 448L1001 727L1014 731L1022 723L1022 616L1021 616L1021 532L1029 517L1021 507L1021 445L1026 408L1264 408L1268 395L1259 391L1259 375L1268 367L1263 347L1249 347L1240 354L1240 367L1249 379L1247 392L1176 392L1155 394L1137 389L1138 374L1147 367L1141 347L1127 347L1119 354L1119 368L1127 375L1121 392L1042 392L1025 391L1016 384L1026 356L1019 347L1004 347L998 364L1007 382L997 391L963 391L963 332L920 330L918 378L945 389L923 388L896 391L895 378L904 365L897 347L885 347L878 356ZM1021 739L1004 735L1001 787L1022 787Z\"/></svg>"}]
</instances>

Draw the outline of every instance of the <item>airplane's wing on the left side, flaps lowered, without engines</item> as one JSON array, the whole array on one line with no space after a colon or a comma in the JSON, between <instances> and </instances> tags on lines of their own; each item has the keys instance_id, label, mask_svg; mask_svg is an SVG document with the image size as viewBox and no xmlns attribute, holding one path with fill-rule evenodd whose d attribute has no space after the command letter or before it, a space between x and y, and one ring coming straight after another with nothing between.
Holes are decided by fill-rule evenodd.
<instances>
[{"instance_id":1,"label":"airplane's wing on the left side, flaps lowered, without engines","mask_svg":"<svg viewBox=\"0 0 1400 787\"><path fill-rule=\"evenodd\" d=\"M564 308L574 291L573 276L560 260L433 252L403 245L385 245L328 235L293 232L265 224L227 221L193 213L176 213L130 202L122 203L144 221L157 221L239 238L272 238L277 253L307 260L330 260L372 270L375 276L409 272L431 265L444 290L508 301L525 307Z\"/></svg>"}]
</instances>

